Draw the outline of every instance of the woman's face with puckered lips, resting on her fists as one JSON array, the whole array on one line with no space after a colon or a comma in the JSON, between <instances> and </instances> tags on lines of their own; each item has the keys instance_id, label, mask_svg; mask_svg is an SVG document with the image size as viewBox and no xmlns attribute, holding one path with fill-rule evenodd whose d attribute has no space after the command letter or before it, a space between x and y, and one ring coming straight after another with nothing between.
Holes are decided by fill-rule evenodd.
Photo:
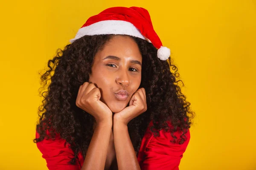
<instances>
[{"instance_id":1,"label":"woman's face with puckered lips, resting on her fists","mask_svg":"<svg viewBox=\"0 0 256 170\"><path fill-rule=\"evenodd\" d=\"M141 64L138 45L128 36L113 36L95 55L89 82L113 113L122 111L139 88Z\"/></svg>"}]
</instances>

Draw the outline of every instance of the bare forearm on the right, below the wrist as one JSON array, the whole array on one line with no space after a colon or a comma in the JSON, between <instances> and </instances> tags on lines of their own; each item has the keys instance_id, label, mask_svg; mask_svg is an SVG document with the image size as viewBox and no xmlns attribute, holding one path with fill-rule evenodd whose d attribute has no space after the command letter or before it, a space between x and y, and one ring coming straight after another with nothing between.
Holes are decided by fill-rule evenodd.
<instances>
[{"instance_id":1,"label":"bare forearm on the right, below the wrist","mask_svg":"<svg viewBox=\"0 0 256 170\"><path fill-rule=\"evenodd\" d=\"M124 124L114 123L113 136L116 150L116 160L119 170L140 170L134 147Z\"/></svg>"}]
</instances>

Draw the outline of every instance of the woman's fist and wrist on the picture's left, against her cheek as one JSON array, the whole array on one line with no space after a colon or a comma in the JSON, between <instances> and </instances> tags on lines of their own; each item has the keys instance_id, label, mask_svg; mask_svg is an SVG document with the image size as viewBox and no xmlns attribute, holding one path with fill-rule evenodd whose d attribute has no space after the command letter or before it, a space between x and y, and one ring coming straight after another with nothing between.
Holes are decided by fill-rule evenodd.
<instances>
[{"instance_id":1,"label":"woman's fist and wrist on the picture's left, against her cheek","mask_svg":"<svg viewBox=\"0 0 256 170\"><path fill-rule=\"evenodd\" d=\"M100 101L99 88L93 83L84 82L79 87L76 106L91 114L96 122L112 121L112 111L105 103Z\"/></svg>"}]
</instances>

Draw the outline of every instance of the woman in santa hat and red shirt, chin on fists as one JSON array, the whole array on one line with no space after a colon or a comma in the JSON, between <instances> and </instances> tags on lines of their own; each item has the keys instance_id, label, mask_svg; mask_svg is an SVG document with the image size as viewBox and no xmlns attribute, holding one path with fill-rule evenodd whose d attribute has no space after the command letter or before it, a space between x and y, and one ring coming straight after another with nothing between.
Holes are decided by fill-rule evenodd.
<instances>
[{"instance_id":1,"label":"woman in santa hat and red shirt, chin on fists","mask_svg":"<svg viewBox=\"0 0 256 170\"><path fill-rule=\"evenodd\" d=\"M108 8L70 42L41 76L34 142L49 170L178 170L194 113L148 11Z\"/></svg>"}]
</instances>

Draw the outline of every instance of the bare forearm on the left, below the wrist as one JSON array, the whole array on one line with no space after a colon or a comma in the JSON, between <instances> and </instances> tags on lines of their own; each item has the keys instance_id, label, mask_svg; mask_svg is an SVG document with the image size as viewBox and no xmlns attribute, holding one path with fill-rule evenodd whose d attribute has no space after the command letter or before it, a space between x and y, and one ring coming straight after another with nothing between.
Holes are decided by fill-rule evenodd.
<instances>
[{"instance_id":1,"label":"bare forearm on the left, below the wrist","mask_svg":"<svg viewBox=\"0 0 256 170\"><path fill-rule=\"evenodd\" d=\"M97 123L81 170L104 170L111 127L111 121Z\"/></svg>"}]
</instances>

